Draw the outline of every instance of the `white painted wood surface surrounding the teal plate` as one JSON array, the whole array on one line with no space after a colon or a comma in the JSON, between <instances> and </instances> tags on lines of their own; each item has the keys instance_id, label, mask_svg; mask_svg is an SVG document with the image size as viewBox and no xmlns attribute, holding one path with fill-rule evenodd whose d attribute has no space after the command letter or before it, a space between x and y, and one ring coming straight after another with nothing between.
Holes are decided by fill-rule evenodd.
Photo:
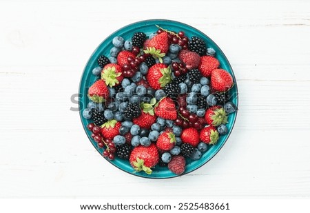
<instances>
[{"instance_id":1,"label":"white painted wood surface surrounding the teal plate","mask_svg":"<svg viewBox=\"0 0 310 213\"><path fill-rule=\"evenodd\" d=\"M143 19L205 32L238 81L229 141L175 179L114 168L70 111L96 46ZM309 198L310 1L1 1L0 32L0 197Z\"/></svg>"}]
</instances>

